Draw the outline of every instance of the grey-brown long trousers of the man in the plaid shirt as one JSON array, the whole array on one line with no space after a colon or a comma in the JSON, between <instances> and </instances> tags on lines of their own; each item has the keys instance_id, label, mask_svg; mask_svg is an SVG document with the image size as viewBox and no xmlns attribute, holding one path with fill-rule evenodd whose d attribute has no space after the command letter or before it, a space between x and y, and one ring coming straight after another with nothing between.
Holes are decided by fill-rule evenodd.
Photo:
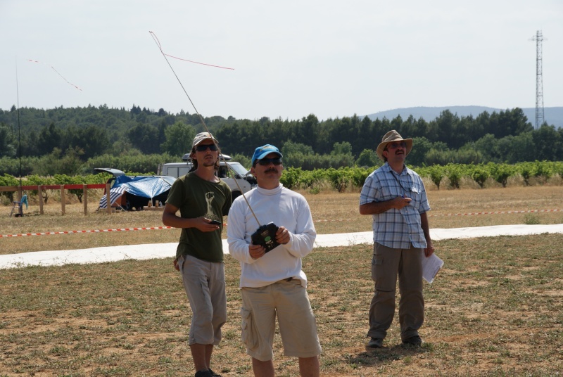
<instances>
[{"instance_id":1,"label":"grey-brown long trousers of the man in the plaid shirt","mask_svg":"<svg viewBox=\"0 0 563 377\"><path fill-rule=\"evenodd\" d=\"M399 276L399 324L401 340L418 335L424 322L422 297L422 251L420 248L393 249L374 243L372 279L374 297L369 305L368 337L385 338L395 315Z\"/></svg>"}]
</instances>

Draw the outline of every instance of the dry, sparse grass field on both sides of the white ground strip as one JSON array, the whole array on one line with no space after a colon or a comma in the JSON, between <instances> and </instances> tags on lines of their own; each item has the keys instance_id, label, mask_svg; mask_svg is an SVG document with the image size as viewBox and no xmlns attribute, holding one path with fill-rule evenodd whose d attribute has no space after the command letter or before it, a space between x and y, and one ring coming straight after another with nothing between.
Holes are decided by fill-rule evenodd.
<instances>
[{"instance_id":1,"label":"dry, sparse grass field on both sides of the white ground strip","mask_svg":"<svg viewBox=\"0 0 563 377\"><path fill-rule=\"evenodd\" d=\"M560 186L430 191L431 227L523 224L531 221L525 214L443 215L561 209L562 194ZM369 217L358 215L358 193L306 196L320 234L371 228ZM0 233L160 226L159 212L84 216L80 205L67 205L62 217L53 207L49 215L20 219L0 207ZM532 215L541 224L563 223L562 212ZM0 238L0 253L177 237L177 230L153 230ZM371 245L315 249L303 269L324 350L322 375L560 375L561 242L561 234L436 242L445 267L433 284L424 285L426 343L419 350L400 346L396 319L386 347L377 352L364 347L373 291ZM238 262L227 257L229 320L213 356L213 368L223 376L251 376L239 335L239 273ZM186 345L191 312L171 258L0 270L0 298L2 377L193 375ZM281 354L279 338L276 347L277 376L297 376L296 360Z\"/></svg>"}]
</instances>

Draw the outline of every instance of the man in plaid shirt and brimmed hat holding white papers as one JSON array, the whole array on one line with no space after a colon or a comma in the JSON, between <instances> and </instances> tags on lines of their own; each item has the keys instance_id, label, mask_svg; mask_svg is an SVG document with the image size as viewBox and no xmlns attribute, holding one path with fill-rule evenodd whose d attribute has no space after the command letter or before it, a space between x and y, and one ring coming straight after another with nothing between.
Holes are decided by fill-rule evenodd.
<instances>
[{"instance_id":1,"label":"man in plaid shirt and brimmed hat holding white papers","mask_svg":"<svg viewBox=\"0 0 563 377\"><path fill-rule=\"evenodd\" d=\"M369 174L360 193L360 214L372 215L374 296L369 306L369 348L383 347L395 315L399 276L399 323L403 344L422 344L418 330L424 321L422 257L434 253L430 239L430 210L419 175L405 166L412 139L389 131L377 146L386 163Z\"/></svg>"}]
</instances>

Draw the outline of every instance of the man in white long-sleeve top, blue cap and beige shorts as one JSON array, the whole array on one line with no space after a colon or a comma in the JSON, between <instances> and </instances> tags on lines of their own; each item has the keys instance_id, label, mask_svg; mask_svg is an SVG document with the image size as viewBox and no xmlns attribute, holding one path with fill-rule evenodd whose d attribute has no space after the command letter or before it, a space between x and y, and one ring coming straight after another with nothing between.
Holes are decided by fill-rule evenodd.
<instances>
[{"instance_id":1,"label":"man in white long-sleeve top, blue cap and beige shorts","mask_svg":"<svg viewBox=\"0 0 563 377\"><path fill-rule=\"evenodd\" d=\"M311 252L317 232L307 200L279 182L281 157L270 144L256 148L251 172L258 187L246 194L252 210L242 196L229 210L229 253L241 263L242 340L254 375L274 376L277 317L284 354L299 358L301 376L319 376L322 349L301 270L301 258ZM270 222L278 226L279 245L267 251L254 245L251 236Z\"/></svg>"}]
</instances>

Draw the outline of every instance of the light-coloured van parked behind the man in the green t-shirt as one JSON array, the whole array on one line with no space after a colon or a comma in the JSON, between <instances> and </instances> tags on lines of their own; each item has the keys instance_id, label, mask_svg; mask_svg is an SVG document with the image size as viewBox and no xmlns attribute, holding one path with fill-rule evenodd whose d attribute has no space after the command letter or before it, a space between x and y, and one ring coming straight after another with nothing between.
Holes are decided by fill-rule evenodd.
<instances>
[{"instance_id":1,"label":"light-coloured van parked behind the man in the green t-shirt","mask_svg":"<svg viewBox=\"0 0 563 377\"><path fill-rule=\"evenodd\" d=\"M182 177L183 175L188 174L193 166L191 158L189 158L189 153L186 153L184 157L182 157L182 161L184 162L158 164L156 174L169 175L176 178ZM222 155L217 177L220 177L220 179L229 185L233 200L240 196L241 193L246 193L257 185L255 177L246 170L240 162L232 161L232 158L229 155Z\"/></svg>"}]
</instances>

